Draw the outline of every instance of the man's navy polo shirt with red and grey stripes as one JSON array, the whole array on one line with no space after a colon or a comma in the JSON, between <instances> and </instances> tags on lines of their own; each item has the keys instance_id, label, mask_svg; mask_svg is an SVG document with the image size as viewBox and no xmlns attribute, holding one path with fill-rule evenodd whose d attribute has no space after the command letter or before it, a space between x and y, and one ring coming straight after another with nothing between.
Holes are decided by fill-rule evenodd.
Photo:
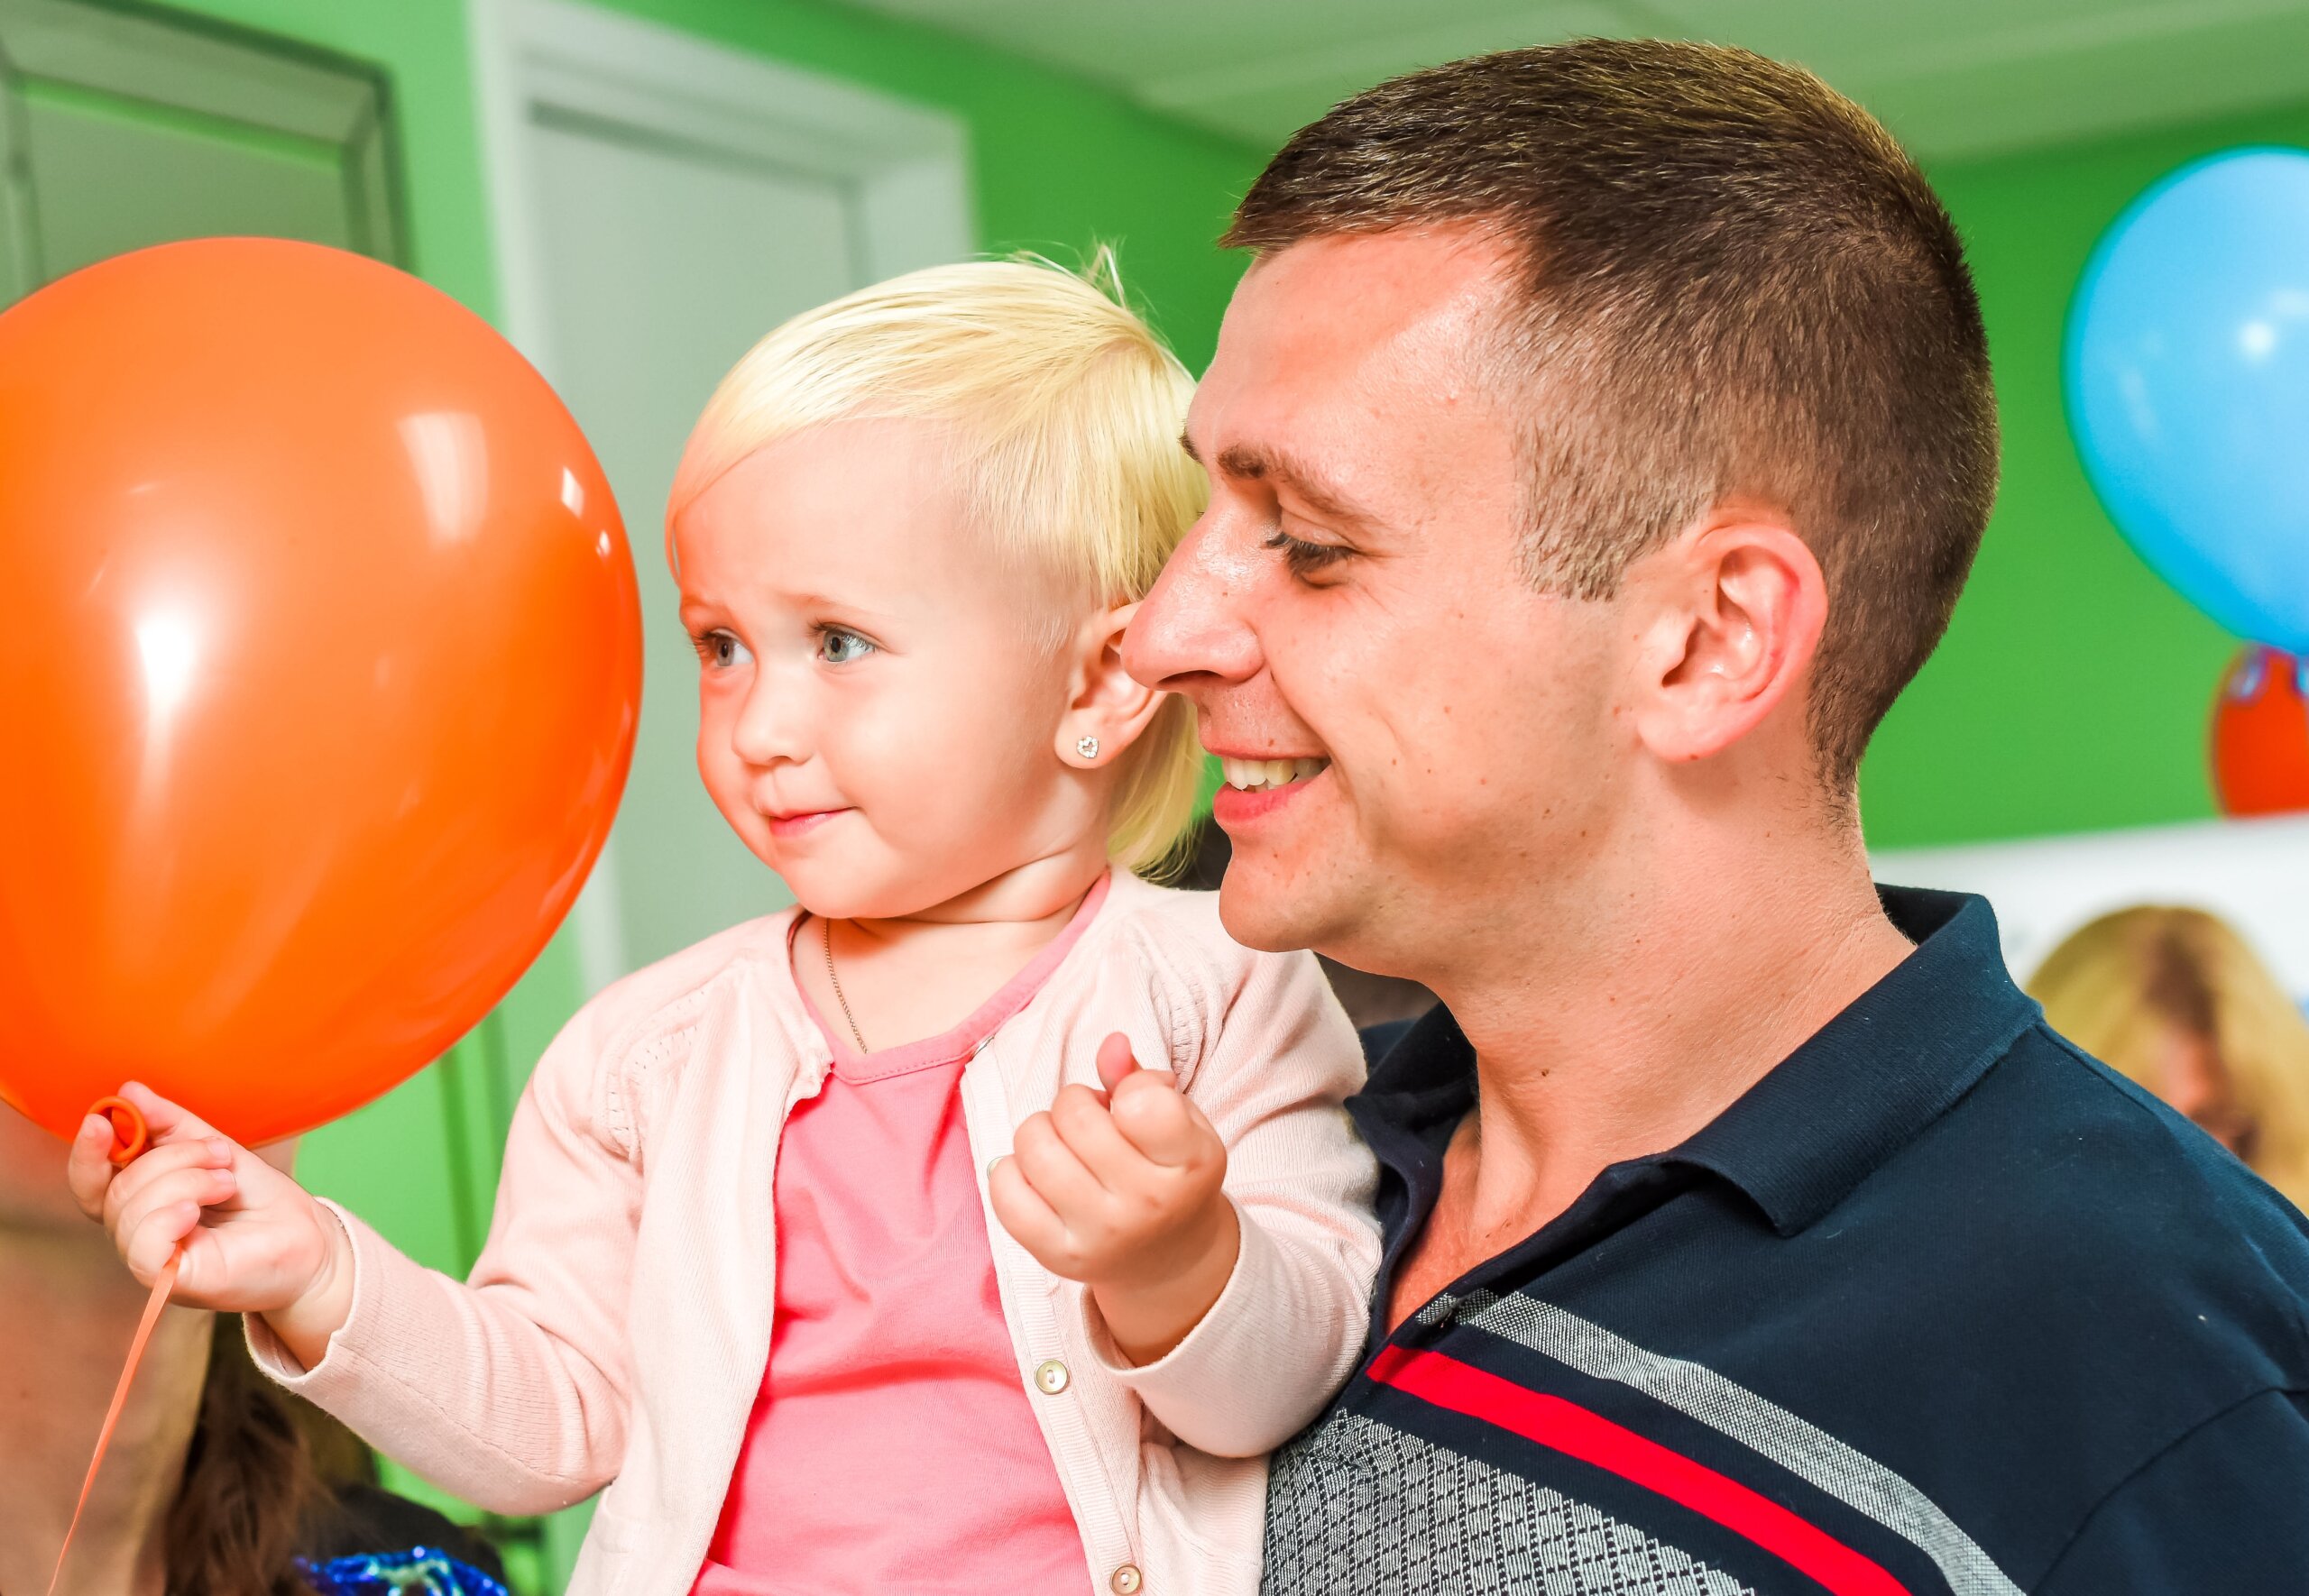
<instances>
[{"instance_id":1,"label":"man's navy polo shirt with red and grey stripes","mask_svg":"<svg viewBox=\"0 0 2309 1596\"><path fill-rule=\"evenodd\" d=\"M1441 1009L1381 1060L1372 1356L1275 1457L1268 1596L2309 1591L2309 1222L1988 903L1884 905L1907 961L1392 1333L1475 1076Z\"/></svg>"}]
</instances>

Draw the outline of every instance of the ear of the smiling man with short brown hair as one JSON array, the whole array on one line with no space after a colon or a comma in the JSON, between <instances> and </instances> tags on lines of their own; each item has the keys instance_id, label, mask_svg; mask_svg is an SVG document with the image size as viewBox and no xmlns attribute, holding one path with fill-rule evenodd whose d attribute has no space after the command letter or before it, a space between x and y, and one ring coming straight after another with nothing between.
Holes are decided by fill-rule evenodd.
<instances>
[{"instance_id":1,"label":"ear of the smiling man with short brown hair","mask_svg":"<svg viewBox=\"0 0 2309 1596\"><path fill-rule=\"evenodd\" d=\"M1637 633L1635 732L1667 762L1723 753L1789 704L1829 621L1829 584L1785 517L1720 508L1628 573Z\"/></svg>"}]
</instances>

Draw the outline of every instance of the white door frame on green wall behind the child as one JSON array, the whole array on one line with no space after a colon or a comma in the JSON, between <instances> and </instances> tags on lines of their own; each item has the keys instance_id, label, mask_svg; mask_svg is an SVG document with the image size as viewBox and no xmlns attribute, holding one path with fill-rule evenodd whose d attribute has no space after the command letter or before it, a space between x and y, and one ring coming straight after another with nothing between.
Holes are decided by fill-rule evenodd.
<instances>
[{"instance_id":1,"label":"white door frame on green wall behind the child","mask_svg":"<svg viewBox=\"0 0 2309 1596\"><path fill-rule=\"evenodd\" d=\"M956 115L575 0L473 0L469 18L499 326L547 381L556 360L529 139L540 113L845 187L866 282L977 249L970 139ZM658 506L623 508L635 557L651 559ZM570 928L589 993L626 972L607 848Z\"/></svg>"}]
</instances>

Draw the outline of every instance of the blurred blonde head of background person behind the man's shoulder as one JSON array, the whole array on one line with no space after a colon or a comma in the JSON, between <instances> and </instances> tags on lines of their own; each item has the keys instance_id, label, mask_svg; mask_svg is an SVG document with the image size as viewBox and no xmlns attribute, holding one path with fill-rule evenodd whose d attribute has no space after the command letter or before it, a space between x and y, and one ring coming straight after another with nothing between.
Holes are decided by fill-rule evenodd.
<instances>
[{"instance_id":1,"label":"blurred blonde head of background person behind the man's shoulder","mask_svg":"<svg viewBox=\"0 0 2309 1596\"><path fill-rule=\"evenodd\" d=\"M2101 915L2037 965L2027 991L2053 1030L2309 1206L2309 1019L2224 919L2150 905Z\"/></svg>"}]
</instances>

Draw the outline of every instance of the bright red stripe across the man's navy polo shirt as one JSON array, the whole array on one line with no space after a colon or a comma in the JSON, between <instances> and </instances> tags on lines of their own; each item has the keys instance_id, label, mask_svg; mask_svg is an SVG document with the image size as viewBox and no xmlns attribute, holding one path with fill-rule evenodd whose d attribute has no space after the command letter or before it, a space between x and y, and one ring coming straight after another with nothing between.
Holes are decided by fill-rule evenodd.
<instances>
[{"instance_id":1,"label":"bright red stripe across the man's navy polo shirt","mask_svg":"<svg viewBox=\"0 0 2309 1596\"><path fill-rule=\"evenodd\" d=\"M1753 1541L1836 1596L1910 1596L1910 1589L1880 1564L1868 1561L1817 1524L1796 1517L1778 1501L1759 1497L1739 1481L1672 1453L1626 1425L1614 1425L1577 1402L1526 1390L1439 1351L1408 1351L1404 1347L1381 1351L1372 1360L1372 1379L1658 1492Z\"/></svg>"}]
</instances>

